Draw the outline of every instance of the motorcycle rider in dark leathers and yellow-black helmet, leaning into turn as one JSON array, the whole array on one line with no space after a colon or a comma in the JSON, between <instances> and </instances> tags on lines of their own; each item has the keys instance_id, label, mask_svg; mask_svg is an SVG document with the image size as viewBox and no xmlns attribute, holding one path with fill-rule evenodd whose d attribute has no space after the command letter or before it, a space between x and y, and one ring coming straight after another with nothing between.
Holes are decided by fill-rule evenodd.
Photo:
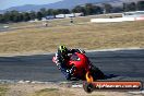
<instances>
[{"instance_id":1,"label":"motorcycle rider in dark leathers and yellow-black helmet, leaning into turn","mask_svg":"<svg viewBox=\"0 0 144 96\"><path fill-rule=\"evenodd\" d=\"M61 70L61 72L65 75L67 80L71 80L71 76L73 74L74 68L68 69L67 67L67 60L70 59L69 53L74 52L83 52L81 49L68 49L65 46L59 46L58 52L56 53L57 57L57 65Z\"/></svg>"}]
</instances>

